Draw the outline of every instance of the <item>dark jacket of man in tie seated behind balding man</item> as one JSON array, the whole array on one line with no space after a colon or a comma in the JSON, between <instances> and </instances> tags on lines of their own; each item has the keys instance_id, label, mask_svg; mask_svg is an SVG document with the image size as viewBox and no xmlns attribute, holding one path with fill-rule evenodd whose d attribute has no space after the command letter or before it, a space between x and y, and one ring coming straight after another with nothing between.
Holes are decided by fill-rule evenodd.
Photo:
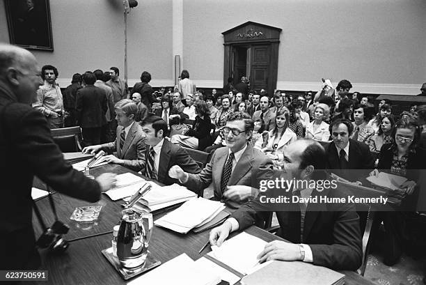
<instances>
[{"instance_id":1,"label":"dark jacket of man in tie seated behind balding man","mask_svg":"<svg viewBox=\"0 0 426 285\"><path fill-rule=\"evenodd\" d=\"M340 170L339 155L334 141L331 141L326 149L327 169L333 170L338 176L350 181L356 181L368 176L374 169L374 157L370 148L364 143L349 139L349 167L348 169L361 169L360 171Z\"/></svg>"}]
</instances>

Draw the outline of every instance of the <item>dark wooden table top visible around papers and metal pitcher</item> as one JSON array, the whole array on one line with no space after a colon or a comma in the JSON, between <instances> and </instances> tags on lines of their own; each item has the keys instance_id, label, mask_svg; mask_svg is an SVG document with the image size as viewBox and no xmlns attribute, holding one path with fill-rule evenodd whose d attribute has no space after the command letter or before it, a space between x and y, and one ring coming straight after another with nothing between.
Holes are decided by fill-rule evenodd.
<instances>
[{"instance_id":1,"label":"dark wooden table top visible around papers and metal pitcher","mask_svg":"<svg viewBox=\"0 0 426 285\"><path fill-rule=\"evenodd\" d=\"M95 176L102 172L121 174L127 171L128 170L124 167L113 164L107 164L90 170ZM62 215L60 219L63 222L70 221L69 217L72 212L69 213L68 211L71 210L76 203L79 203L79 206L84 204L83 201L77 201L70 197L62 196L61 194L54 194L54 197L55 201L61 203L61 207L57 205L56 208L58 208L58 215ZM93 226L93 228L89 230L83 230L78 226L72 226L70 232L65 236L66 239L70 240L70 237L79 237L82 233L97 233L104 230L112 230L112 225L118 222L117 217L119 217L120 201L111 201L108 197L103 200L106 205L102 208L102 218L97 226ZM37 202L40 206L40 211L42 211L45 217L49 216L51 212L46 202L48 202L47 199L42 199ZM162 215L164 215L164 213L155 215L154 219ZM34 225L36 226L36 223L34 223ZM251 226L246 229L246 232L266 241L279 239L279 237L256 226ZM161 263L165 263L182 253L186 253L191 259L196 260L210 251L210 247L207 247L201 254L198 254L198 251L205 245L205 242L207 242L208 235L209 231L198 234L191 232L184 235L159 226L154 226L149 246L150 254L152 254L155 259L161 261ZM68 250L61 255L52 254L45 249L40 250L40 255L42 256L42 267L40 269L49 271L49 281L36 282L34 284L126 284L127 282L120 277L118 272L116 272L107 259L104 258L101 252L102 249L111 247L111 237L111 233L106 233L102 236L75 240L74 242L70 242ZM342 271L342 273L346 275L346 284L373 284L355 272Z\"/></svg>"}]
</instances>

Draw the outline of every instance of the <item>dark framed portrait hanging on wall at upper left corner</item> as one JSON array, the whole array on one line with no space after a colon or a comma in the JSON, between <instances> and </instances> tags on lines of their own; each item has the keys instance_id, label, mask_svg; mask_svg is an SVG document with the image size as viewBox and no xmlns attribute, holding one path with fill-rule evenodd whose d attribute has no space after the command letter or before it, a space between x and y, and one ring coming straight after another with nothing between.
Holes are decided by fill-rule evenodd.
<instances>
[{"instance_id":1,"label":"dark framed portrait hanging on wall at upper left corner","mask_svg":"<svg viewBox=\"0 0 426 285\"><path fill-rule=\"evenodd\" d=\"M49 0L5 0L10 43L53 51Z\"/></svg>"}]
</instances>

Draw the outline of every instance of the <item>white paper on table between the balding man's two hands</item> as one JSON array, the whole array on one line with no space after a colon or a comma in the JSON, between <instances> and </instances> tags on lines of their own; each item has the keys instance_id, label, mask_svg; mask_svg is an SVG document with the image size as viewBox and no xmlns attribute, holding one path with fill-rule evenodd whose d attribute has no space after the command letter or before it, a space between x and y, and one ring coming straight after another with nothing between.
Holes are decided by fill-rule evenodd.
<instances>
[{"instance_id":1,"label":"white paper on table between the balding man's two hands","mask_svg":"<svg viewBox=\"0 0 426 285\"><path fill-rule=\"evenodd\" d=\"M208 255L246 275L271 263L271 261L258 263L257 256L266 244L265 240L243 232L226 240L220 247L212 246L212 252Z\"/></svg>"}]
</instances>

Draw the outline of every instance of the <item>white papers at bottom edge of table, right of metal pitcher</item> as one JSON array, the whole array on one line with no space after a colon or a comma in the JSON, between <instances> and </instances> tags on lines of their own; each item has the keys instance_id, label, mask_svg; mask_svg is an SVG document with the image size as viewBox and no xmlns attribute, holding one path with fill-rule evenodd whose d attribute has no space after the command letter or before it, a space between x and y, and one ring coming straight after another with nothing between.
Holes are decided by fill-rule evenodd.
<instances>
[{"instance_id":1,"label":"white papers at bottom edge of table, right of metal pitcher","mask_svg":"<svg viewBox=\"0 0 426 285\"><path fill-rule=\"evenodd\" d=\"M196 263L187 254L181 254L128 284L215 285L219 282L221 277L216 272L206 270L203 263Z\"/></svg>"}]
</instances>

